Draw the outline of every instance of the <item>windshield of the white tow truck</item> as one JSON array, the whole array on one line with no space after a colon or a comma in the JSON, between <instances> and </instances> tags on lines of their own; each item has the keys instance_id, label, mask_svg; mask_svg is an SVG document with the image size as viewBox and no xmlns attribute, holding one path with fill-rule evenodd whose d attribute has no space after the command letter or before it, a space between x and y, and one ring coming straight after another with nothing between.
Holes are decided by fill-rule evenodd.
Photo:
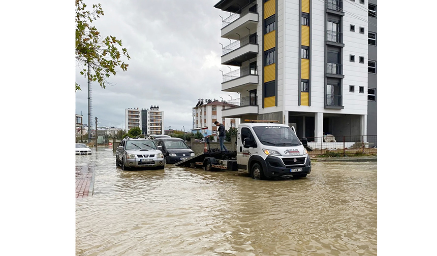
<instances>
[{"instance_id":1,"label":"windshield of the white tow truck","mask_svg":"<svg viewBox=\"0 0 437 256\"><path fill-rule=\"evenodd\" d=\"M298 146L301 144L299 138L285 126L255 126L253 127L261 143L276 146Z\"/></svg>"}]
</instances>

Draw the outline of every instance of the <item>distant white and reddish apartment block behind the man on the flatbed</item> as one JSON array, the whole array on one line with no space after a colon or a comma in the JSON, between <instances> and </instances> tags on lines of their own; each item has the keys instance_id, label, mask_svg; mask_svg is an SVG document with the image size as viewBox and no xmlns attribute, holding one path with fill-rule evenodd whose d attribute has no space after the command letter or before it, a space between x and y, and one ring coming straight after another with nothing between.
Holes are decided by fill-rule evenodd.
<instances>
[{"instance_id":1,"label":"distant white and reddish apartment block behind the man on the flatbed","mask_svg":"<svg viewBox=\"0 0 437 256\"><path fill-rule=\"evenodd\" d=\"M232 104L226 101L219 101L216 99L199 99L196 106L193 107L193 132L200 130L210 130L213 135L217 134L217 126L215 121L219 121L225 126L226 130L231 127L237 127L240 124L239 118L223 117L225 108Z\"/></svg>"}]
</instances>

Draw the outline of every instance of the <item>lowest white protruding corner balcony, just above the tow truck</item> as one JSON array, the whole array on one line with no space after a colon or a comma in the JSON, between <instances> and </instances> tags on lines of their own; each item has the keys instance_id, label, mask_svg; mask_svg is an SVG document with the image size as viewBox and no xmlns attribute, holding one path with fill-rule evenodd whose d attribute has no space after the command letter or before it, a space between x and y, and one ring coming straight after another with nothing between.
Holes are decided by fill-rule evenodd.
<instances>
[{"instance_id":1,"label":"lowest white protruding corner balcony, just above the tow truck","mask_svg":"<svg viewBox=\"0 0 437 256\"><path fill-rule=\"evenodd\" d=\"M258 97L248 96L226 101L222 110L224 118L241 118L244 115L258 115Z\"/></svg>"}]
</instances>

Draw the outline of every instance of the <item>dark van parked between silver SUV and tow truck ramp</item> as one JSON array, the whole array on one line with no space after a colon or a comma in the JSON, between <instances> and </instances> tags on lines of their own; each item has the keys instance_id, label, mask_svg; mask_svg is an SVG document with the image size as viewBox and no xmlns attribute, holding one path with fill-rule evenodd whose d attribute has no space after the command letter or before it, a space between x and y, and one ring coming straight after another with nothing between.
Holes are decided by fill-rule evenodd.
<instances>
[{"instance_id":1,"label":"dark van parked between silver SUV and tow truck ramp","mask_svg":"<svg viewBox=\"0 0 437 256\"><path fill-rule=\"evenodd\" d=\"M183 139L161 137L153 141L164 154L167 164L174 164L195 155Z\"/></svg>"}]
</instances>

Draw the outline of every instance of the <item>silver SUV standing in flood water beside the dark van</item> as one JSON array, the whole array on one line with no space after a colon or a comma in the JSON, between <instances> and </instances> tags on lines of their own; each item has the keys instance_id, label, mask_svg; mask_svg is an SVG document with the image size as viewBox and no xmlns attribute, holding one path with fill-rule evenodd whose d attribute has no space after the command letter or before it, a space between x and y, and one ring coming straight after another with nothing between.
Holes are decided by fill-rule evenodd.
<instances>
[{"instance_id":1,"label":"silver SUV standing in flood water beside the dark van","mask_svg":"<svg viewBox=\"0 0 437 256\"><path fill-rule=\"evenodd\" d=\"M126 137L121 140L115 153L115 163L122 170L157 167L164 169L164 155L153 140Z\"/></svg>"}]
</instances>

